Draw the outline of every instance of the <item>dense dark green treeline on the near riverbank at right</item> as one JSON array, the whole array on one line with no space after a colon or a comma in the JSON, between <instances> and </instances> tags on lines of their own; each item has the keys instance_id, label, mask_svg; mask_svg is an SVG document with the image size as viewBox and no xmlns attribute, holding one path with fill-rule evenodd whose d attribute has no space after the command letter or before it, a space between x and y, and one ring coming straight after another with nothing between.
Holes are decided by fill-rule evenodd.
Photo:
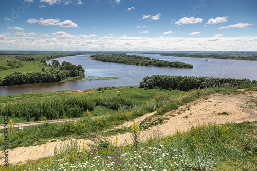
<instances>
[{"instance_id":1,"label":"dense dark green treeline on the near riverbank at right","mask_svg":"<svg viewBox=\"0 0 257 171\"><path fill-rule=\"evenodd\" d=\"M191 89L230 86L237 87L243 84L256 84L257 81L249 79L234 78L213 78L213 77L193 77L193 76L170 76L170 75L153 75L146 76L140 82L140 88L152 89L161 87L162 89L179 89L181 91L189 91Z\"/></svg>"}]
</instances>

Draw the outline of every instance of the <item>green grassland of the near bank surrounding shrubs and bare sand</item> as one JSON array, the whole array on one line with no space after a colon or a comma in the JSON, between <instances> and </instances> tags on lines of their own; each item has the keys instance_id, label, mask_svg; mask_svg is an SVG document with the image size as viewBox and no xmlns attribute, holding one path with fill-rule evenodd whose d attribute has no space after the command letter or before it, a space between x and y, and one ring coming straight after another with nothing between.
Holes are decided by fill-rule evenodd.
<instances>
[{"instance_id":1,"label":"green grassland of the near bank surrounding shrubs and bare sand","mask_svg":"<svg viewBox=\"0 0 257 171\"><path fill-rule=\"evenodd\" d=\"M257 91L250 87L245 91ZM177 131L163 136L161 132L145 135L140 132L161 124L163 115L179 106L212 93L238 94L235 88L206 88L182 92L128 87L100 87L86 90L85 93L61 91L11 95L26 99L30 103L67 98L106 98L121 97L127 105L117 110L105 106L95 106L84 112L78 121L63 124L35 125L23 130L8 130L9 148L46 144L52 140L72 140L55 150L55 155L22 165L0 166L0 170L256 170L257 168L257 122L227 123L223 125L192 123L185 132ZM57 93L57 94L54 94ZM7 102L8 96L2 96ZM38 98L33 98L38 97ZM32 98L32 99L27 99ZM12 101L12 100L10 100ZM21 101L19 101L21 102ZM19 103L12 102L12 103ZM7 105L3 103L2 105ZM129 128L108 131L107 135L130 132L133 144L118 138L111 141L105 131L124 121L133 120L146 113L156 111L158 119L148 124L134 122ZM17 118L12 118L13 120ZM21 118L20 118L21 119ZM145 120L151 120L146 118ZM21 120L22 122L22 120ZM3 130L1 130L2 132ZM79 144L76 139L91 139L92 144ZM0 143L4 143L3 136ZM4 149L4 146L0 146Z\"/></svg>"}]
</instances>

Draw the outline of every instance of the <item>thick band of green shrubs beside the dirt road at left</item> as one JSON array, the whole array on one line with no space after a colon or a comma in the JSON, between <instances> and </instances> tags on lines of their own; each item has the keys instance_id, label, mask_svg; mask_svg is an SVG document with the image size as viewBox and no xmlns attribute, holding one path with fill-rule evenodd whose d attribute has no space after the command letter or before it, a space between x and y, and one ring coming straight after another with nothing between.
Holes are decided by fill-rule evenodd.
<instances>
[{"instance_id":1,"label":"thick band of green shrubs beside the dirt road at left","mask_svg":"<svg viewBox=\"0 0 257 171\"><path fill-rule=\"evenodd\" d=\"M85 98L72 97L63 100L52 100L44 102L17 102L1 105L0 115L7 114L9 117L25 117L27 121L34 118L35 121L44 117L47 120L59 118L82 117L87 109L93 110L95 106L117 110L124 104L124 99L112 98Z\"/></svg>"}]
</instances>

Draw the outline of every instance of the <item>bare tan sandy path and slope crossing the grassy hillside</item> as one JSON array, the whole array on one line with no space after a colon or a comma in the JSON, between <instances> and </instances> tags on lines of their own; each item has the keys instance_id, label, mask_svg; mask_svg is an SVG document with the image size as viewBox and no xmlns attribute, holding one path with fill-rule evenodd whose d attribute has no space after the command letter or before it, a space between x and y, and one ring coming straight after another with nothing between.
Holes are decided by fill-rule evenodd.
<instances>
[{"instance_id":1,"label":"bare tan sandy path and slope crossing the grassy hillside","mask_svg":"<svg viewBox=\"0 0 257 171\"><path fill-rule=\"evenodd\" d=\"M226 123L226 122L243 122L257 120L257 105L250 101L257 101L257 92L246 92L245 94L227 95L214 94L205 98L198 99L194 102L180 106L179 109L170 111L166 114L169 120L164 121L163 124L151 127L149 130L141 132L141 139L148 139L149 137L158 135L169 135L174 133L177 129L181 131L187 130L192 124L206 124L206 123ZM136 119L141 123L145 118L154 113L146 114ZM154 119L154 118L153 118ZM129 127L132 121L126 122L123 125ZM116 136L111 136L112 140ZM132 143L131 134L118 134L119 145L122 145L125 140L127 143ZM65 141L65 143L70 140ZM89 140L80 139L79 142L90 143ZM59 147L61 141L48 142L46 145L18 147L10 150L8 153L9 162L13 164L25 163L27 160L35 160L40 157L53 155L54 147ZM3 157L1 152L0 157ZM0 159L2 163L3 159Z\"/></svg>"}]
</instances>

